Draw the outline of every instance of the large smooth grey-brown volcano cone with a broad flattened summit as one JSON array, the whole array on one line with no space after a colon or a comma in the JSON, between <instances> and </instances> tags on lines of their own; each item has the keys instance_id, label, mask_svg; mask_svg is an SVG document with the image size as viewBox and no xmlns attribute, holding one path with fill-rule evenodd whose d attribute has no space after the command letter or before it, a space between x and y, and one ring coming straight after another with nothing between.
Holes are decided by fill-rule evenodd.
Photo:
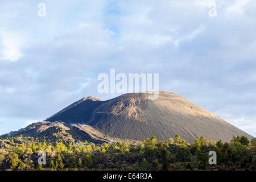
<instances>
[{"instance_id":1,"label":"large smooth grey-brown volcano cone with a broad flattened summit","mask_svg":"<svg viewBox=\"0 0 256 182\"><path fill-rule=\"evenodd\" d=\"M85 97L46 120L86 124L110 137L134 140L152 135L164 141L180 135L189 143L201 136L224 142L229 142L233 135L253 138L202 107L166 91L160 91L156 100L148 100L148 93L128 93L108 101Z\"/></svg>"}]
</instances>

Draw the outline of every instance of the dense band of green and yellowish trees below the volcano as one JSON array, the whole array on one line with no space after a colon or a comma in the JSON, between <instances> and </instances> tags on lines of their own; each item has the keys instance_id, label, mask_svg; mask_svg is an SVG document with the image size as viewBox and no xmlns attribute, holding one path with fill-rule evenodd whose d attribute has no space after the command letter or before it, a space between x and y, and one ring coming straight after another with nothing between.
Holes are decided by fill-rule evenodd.
<instances>
[{"instance_id":1,"label":"dense band of green and yellowish trees below the volcano","mask_svg":"<svg viewBox=\"0 0 256 182\"><path fill-rule=\"evenodd\" d=\"M57 134L55 134L57 137ZM54 137L51 136L51 137ZM46 165L38 163L46 152ZM209 151L217 164L210 165ZM256 170L256 138L234 136L230 143L201 137L188 144L179 135L166 142L151 139L94 144L47 137L0 138L1 170Z\"/></svg>"}]
</instances>

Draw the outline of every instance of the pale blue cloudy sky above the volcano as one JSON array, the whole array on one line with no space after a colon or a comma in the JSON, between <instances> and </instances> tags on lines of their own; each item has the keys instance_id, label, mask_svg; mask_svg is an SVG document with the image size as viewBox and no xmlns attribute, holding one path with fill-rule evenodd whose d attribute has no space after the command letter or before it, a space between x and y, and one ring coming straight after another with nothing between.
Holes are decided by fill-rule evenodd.
<instances>
[{"instance_id":1,"label":"pale blue cloudy sky above the volcano","mask_svg":"<svg viewBox=\"0 0 256 182\"><path fill-rule=\"evenodd\" d=\"M0 1L0 134L82 97L119 96L97 92L97 76L114 68L159 73L159 90L255 137L255 8L253 0Z\"/></svg>"}]
</instances>

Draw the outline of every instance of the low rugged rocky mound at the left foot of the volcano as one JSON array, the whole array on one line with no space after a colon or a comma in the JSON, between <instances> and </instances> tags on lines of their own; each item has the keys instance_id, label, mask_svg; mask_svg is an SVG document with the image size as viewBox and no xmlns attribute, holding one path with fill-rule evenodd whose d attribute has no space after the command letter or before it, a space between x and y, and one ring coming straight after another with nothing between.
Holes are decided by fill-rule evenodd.
<instances>
[{"instance_id":1,"label":"low rugged rocky mound at the left foot of the volcano","mask_svg":"<svg viewBox=\"0 0 256 182\"><path fill-rule=\"evenodd\" d=\"M10 137L19 137L20 135L23 137L38 137L39 139L46 139L51 142L60 142L64 137L65 140L69 142L76 141L77 143L79 143L79 141L85 142L86 140L87 142L93 142L94 144L102 144L104 142L122 142L130 143L133 145L139 144L139 142L135 140L128 141L127 139L109 137L108 135L104 135L90 126L73 125L69 127L60 122L32 123L24 129L14 131L11 133Z\"/></svg>"}]
</instances>

